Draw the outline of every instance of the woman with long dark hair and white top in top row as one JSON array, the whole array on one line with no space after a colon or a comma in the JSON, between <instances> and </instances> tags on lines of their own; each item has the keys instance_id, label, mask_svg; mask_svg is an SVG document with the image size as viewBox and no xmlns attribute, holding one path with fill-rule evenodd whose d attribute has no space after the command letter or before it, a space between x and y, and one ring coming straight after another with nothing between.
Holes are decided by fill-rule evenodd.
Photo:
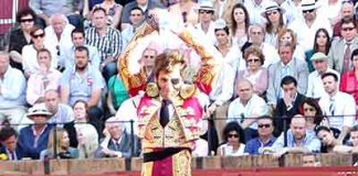
<instances>
[{"instance_id":1,"label":"woman with long dark hair and white top in top row","mask_svg":"<svg viewBox=\"0 0 358 176\"><path fill-rule=\"evenodd\" d=\"M249 12L242 3L236 3L232 8L230 33L232 34L233 42L240 47L248 41L249 19Z\"/></svg>"}]
</instances>

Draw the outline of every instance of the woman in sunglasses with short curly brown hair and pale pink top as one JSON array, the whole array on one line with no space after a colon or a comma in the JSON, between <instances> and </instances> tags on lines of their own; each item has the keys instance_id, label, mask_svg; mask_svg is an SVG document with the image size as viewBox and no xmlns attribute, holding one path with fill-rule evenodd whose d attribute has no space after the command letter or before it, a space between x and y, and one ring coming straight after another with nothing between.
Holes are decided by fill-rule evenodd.
<instances>
[{"instance_id":1,"label":"woman in sunglasses with short curly brown hair and pale pink top","mask_svg":"<svg viewBox=\"0 0 358 176\"><path fill-rule=\"evenodd\" d=\"M257 46L250 46L245 50L244 61L246 69L239 70L236 80L243 78L253 85L253 91L260 97L265 97L268 86L268 72L263 67L265 56Z\"/></svg>"}]
</instances>

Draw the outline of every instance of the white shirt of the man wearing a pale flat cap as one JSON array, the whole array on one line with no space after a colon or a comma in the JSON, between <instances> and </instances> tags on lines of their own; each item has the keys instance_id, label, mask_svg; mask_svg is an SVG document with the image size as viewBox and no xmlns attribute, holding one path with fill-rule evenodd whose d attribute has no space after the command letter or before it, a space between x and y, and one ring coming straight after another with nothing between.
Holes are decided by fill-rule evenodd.
<instances>
[{"instance_id":1,"label":"white shirt of the man wearing a pale flat cap","mask_svg":"<svg viewBox=\"0 0 358 176\"><path fill-rule=\"evenodd\" d=\"M336 75L339 75L338 72L331 68L327 68L326 73L334 73ZM325 94L325 88L323 86L320 76L322 75L319 75L317 70L308 75L308 86L307 86L306 97L320 98Z\"/></svg>"}]
</instances>

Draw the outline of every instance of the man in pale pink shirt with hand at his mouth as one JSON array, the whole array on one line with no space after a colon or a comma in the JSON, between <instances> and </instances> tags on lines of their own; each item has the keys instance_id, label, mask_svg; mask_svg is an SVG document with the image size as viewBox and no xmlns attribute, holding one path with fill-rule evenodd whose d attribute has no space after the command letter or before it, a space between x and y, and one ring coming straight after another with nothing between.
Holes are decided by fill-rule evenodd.
<instances>
[{"instance_id":1,"label":"man in pale pink shirt with hand at his mouth","mask_svg":"<svg viewBox=\"0 0 358 176\"><path fill-rule=\"evenodd\" d=\"M62 74L51 67L51 53L46 48L38 51L40 69L30 75L27 89L27 101L31 106L44 101L44 92L59 89Z\"/></svg>"}]
</instances>

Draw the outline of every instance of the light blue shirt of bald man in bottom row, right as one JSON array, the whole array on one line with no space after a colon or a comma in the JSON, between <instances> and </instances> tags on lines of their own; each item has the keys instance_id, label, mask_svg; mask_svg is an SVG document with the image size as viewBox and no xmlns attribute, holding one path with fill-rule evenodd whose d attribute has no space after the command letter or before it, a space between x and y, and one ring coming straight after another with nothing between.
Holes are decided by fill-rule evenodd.
<instances>
[{"instance_id":1,"label":"light blue shirt of bald man in bottom row, right","mask_svg":"<svg viewBox=\"0 0 358 176\"><path fill-rule=\"evenodd\" d=\"M280 151L280 148L284 147L284 133L282 133L275 143L272 145L275 151ZM287 131L287 147L297 147L303 146L306 147L309 152L320 152L320 141L317 139L316 133L314 131L306 130L305 139L297 145L291 129Z\"/></svg>"}]
</instances>

